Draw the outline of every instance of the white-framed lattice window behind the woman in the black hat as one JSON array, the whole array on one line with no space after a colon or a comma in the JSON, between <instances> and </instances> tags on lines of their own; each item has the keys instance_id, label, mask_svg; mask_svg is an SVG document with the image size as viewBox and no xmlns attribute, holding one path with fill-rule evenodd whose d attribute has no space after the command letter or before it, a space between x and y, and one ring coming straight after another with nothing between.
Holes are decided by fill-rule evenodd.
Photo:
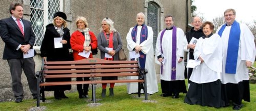
<instances>
[{"instance_id":1,"label":"white-framed lattice window behind the woman in the black hat","mask_svg":"<svg viewBox=\"0 0 256 111\"><path fill-rule=\"evenodd\" d=\"M45 26L52 23L55 12L62 11L63 0L30 0L30 22L36 35L35 49L40 49Z\"/></svg>"}]
</instances>

